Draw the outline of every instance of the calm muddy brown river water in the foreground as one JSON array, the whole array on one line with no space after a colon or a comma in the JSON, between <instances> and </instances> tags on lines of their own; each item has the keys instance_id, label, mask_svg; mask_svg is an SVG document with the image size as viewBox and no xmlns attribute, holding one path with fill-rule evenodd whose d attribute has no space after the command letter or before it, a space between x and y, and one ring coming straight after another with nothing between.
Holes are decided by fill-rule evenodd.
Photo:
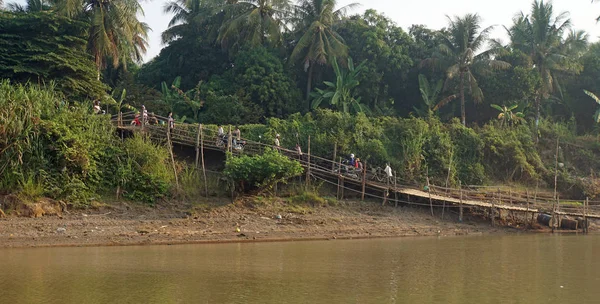
<instances>
[{"instance_id":1,"label":"calm muddy brown river water in the foreground","mask_svg":"<svg viewBox=\"0 0 600 304\"><path fill-rule=\"evenodd\" d=\"M600 235L0 249L0 303L598 303Z\"/></svg>"}]
</instances>

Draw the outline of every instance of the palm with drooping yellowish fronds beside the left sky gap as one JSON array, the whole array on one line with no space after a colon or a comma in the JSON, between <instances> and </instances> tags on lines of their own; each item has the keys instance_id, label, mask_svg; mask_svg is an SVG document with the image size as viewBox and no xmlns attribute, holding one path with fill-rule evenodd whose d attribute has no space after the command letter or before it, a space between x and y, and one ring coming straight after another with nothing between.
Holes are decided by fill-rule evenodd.
<instances>
[{"instance_id":1,"label":"palm with drooping yellowish fronds beside the left sky gap","mask_svg":"<svg viewBox=\"0 0 600 304\"><path fill-rule=\"evenodd\" d=\"M98 78L109 60L115 67L141 61L150 28L137 18L144 13L137 0L55 0L55 7L61 15L89 22L87 50Z\"/></svg>"}]
</instances>

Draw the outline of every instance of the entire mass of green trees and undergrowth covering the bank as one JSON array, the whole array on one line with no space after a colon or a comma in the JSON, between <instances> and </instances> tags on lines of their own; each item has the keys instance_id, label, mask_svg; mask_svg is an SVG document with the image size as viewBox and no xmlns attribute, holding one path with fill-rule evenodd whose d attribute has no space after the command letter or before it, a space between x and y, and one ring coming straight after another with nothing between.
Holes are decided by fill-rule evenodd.
<instances>
[{"instance_id":1,"label":"entire mass of green trees and undergrowth covering the bank","mask_svg":"<svg viewBox=\"0 0 600 304\"><path fill-rule=\"evenodd\" d=\"M306 147L310 135L316 155L332 157L337 144L338 156L389 162L411 183L550 185L558 138L560 187L589 193L585 177L600 169L590 98L600 93L600 44L567 14L534 0L505 25L502 44L476 14L405 31L373 10L349 16L354 5L338 2L174 0L166 46L141 66L148 28L138 1L0 10L0 78L10 79L0 100L2 191L41 188L82 203L115 188L142 201L169 193L164 148L114 138L106 118L88 114L92 99L112 114L144 104L177 122L239 124L261 142L280 133L287 148ZM15 85L27 82L47 86ZM246 190L272 185L262 169Z\"/></svg>"}]
</instances>

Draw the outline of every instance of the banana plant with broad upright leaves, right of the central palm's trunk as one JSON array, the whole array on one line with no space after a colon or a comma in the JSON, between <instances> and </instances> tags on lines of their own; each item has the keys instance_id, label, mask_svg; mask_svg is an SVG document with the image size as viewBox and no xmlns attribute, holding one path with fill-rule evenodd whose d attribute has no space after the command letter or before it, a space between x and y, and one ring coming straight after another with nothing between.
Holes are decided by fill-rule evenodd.
<instances>
[{"instance_id":1,"label":"banana plant with broad upright leaves, right of the central palm's trunk","mask_svg":"<svg viewBox=\"0 0 600 304\"><path fill-rule=\"evenodd\" d=\"M363 61L358 66L354 66L352 58L348 58L348 69L343 70L337 64L337 60L333 60L333 71L335 72L335 83L323 81L327 86L325 89L316 88L311 93L313 97L312 108L318 108L323 101L328 101L329 104L338 111L349 113L352 108L354 112L370 113L367 106L360 103L361 98L356 97L354 89L360 84L358 76L365 66L366 61Z\"/></svg>"}]
</instances>

